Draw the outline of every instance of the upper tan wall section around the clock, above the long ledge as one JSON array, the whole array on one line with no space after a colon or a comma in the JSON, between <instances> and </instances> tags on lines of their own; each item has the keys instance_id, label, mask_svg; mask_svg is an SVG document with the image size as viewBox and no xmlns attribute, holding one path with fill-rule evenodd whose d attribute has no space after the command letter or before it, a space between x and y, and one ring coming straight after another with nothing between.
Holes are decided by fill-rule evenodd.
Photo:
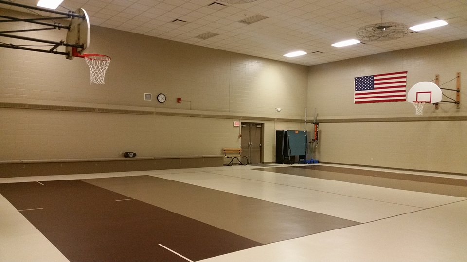
<instances>
[{"instance_id":1,"label":"upper tan wall section around the clock, above the long ledge","mask_svg":"<svg viewBox=\"0 0 467 262\"><path fill-rule=\"evenodd\" d=\"M13 24L0 28L9 30ZM35 33L36 38L54 41L65 35L63 30ZM267 115L281 107L281 115L288 117L302 115L306 107L306 66L98 26L91 26L85 52L112 57L104 85L89 84L84 59L1 48L0 98ZM144 101L144 93L153 94L153 100ZM164 104L155 99L159 93L167 96Z\"/></svg>"}]
</instances>

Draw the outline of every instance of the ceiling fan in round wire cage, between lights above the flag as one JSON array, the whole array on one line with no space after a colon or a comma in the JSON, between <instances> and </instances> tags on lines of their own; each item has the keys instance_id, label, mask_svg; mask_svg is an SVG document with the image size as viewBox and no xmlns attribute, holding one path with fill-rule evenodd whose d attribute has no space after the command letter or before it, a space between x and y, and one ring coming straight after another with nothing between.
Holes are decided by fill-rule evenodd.
<instances>
[{"instance_id":1,"label":"ceiling fan in round wire cage, between lights above the flag","mask_svg":"<svg viewBox=\"0 0 467 262\"><path fill-rule=\"evenodd\" d=\"M357 31L357 38L361 42L378 42L394 40L404 37L409 27L395 22L383 23L384 10L380 10L381 23L362 26Z\"/></svg>"}]
</instances>

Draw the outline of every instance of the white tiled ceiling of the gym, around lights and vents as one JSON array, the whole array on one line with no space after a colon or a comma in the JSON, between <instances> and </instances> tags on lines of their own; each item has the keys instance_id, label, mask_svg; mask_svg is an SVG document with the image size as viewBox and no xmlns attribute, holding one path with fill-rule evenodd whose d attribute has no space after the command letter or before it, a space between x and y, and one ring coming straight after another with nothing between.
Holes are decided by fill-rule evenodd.
<instances>
[{"instance_id":1,"label":"white tiled ceiling of the gym, around lights and vents","mask_svg":"<svg viewBox=\"0 0 467 262\"><path fill-rule=\"evenodd\" d=\"M465 0L261 0L209 7L213 2L64 0L62 6L84 8L92 25L303 65L467 39ZM380 10L384 10L382 17ZM269 18L251 25L238 22L258 14ZM386 42L342 49L330 46L355 38L359 27L380 23L381 18L383 22L413 26L434 17L446 19L449 25ZM188 23L176 25L174 19ZM196 38L207 32L219 35L207 40ZM289 49L323 53L289 60L282 56Z\"/></svg>"}]
</instances>

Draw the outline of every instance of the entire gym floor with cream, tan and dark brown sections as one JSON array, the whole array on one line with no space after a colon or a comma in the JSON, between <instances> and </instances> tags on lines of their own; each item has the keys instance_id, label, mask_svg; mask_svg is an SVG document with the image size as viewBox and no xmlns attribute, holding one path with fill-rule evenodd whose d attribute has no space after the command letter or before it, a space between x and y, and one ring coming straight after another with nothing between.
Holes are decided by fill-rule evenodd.
<instances>
[{"instance_id":1,"label":"entire gym floor with cream, tan and dark brown sections","mask_svg":"<svg viewBox=\"0 0 467 262\"><path fill-rule=\"evenodd\" d=\"M261 164L0 179L0 261L467 261L467 176Z\"/></svg>"}]
</instances>

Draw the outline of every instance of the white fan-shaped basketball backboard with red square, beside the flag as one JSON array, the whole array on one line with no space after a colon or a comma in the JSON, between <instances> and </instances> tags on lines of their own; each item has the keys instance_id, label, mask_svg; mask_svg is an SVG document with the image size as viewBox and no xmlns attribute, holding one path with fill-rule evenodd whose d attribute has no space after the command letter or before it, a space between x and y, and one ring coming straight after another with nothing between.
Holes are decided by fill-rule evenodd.
<instances>
[{"instance_id":1,"label":"white fan-shaped basketball backboard with red square, beside the flag","mask_svg":"<svg viewBox=\"0 0 467 262\"><path fill-rule=\"evenodd\" d=\"M434 104L440 102L442 96L441 89L435 83L419 82L407 93L407 102L424 101L427 104Z\"/></svg>"}]
</instances>

